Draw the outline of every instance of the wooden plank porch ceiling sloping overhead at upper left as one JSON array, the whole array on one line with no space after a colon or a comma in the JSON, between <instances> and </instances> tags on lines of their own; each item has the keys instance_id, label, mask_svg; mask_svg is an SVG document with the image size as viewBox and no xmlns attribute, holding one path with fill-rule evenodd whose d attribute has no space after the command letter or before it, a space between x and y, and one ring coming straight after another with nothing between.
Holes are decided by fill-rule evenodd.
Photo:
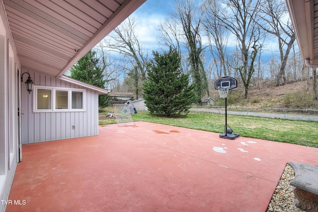
<instances>
[{"instance_id":1,"label":"wooden plank porch ceiling sloping overhead at upper left","mask_svg":"<svg viewBox=\"0 0 318 212\"><path fill-rule=\"evenodd\" d=\"M3 0L22 68L61 76L146 0Z\"/></svg>"}]
</instances>

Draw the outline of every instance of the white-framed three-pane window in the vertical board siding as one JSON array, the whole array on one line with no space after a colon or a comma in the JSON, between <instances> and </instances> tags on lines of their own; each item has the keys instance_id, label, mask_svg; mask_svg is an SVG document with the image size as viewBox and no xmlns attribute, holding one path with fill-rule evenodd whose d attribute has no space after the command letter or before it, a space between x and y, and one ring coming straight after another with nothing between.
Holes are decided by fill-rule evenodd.
<instances>
[{"instance_id":1,"label":"white-framed three-pane window in the vertical board siding","mask_svg":"<svg viewBox=\"0 0 318 212\"><path fill-rule=\"evenodd\" d=\"M34 112L84 111L84 89L34 86ZM53 106L54 105L54 106Z\"/></svg>"}]
</instances>

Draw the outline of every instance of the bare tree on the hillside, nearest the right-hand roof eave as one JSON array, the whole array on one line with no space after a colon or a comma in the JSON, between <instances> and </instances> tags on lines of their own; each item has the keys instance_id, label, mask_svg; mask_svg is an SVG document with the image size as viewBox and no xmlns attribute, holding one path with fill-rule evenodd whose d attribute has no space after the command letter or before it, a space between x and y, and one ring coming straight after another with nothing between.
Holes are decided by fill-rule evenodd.
<instances>
[{"instance_id":1,"label":"bare tree on the hillside, nearest the right-hand roof eave","mask_svg":"<svg viewBox=\"0 0 318 212\"><path fill-rule=\"evenodd\" d=\"M258 25L265 32L277 37L281 66L276 78L276 85L286 82L285 67L289 52L296 39L288 17L286 2L282 0L262 0L257 13Z\"/></svg>"}]
</instances>

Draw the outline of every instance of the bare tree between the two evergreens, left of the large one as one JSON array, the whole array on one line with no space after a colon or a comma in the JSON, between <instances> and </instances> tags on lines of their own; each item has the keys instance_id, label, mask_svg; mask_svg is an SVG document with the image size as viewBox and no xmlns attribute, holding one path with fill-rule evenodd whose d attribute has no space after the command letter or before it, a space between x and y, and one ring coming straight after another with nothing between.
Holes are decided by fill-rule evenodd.
<instances>
[{"instance_id":1,"label":"bare tree between the two evergreens, left of the large one","mask_svg":"<svg viewBox=\"0 0 318 212\"><path fill-rule=\"evenodd\" d=\"M134 79L136 98L139 98L141 96L141 82L146 79L148 53L139 42L135 32L136 26L137 20L134 17L129 17L101 43L109 51L119 53L130 64L129 67L125 68L128 69L129 76Z\"/></svg>"}]
</instances>

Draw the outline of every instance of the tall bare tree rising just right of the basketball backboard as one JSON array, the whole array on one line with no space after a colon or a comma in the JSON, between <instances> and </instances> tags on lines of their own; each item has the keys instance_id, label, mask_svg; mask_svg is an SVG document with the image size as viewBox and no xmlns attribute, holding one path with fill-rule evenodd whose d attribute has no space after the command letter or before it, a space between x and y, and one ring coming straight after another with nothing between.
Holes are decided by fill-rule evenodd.
<instances>
[{"instance_id":1,"label":"tall bare tree rising just right of the basketball backboard","mask_svg":"<svg viewBox=\"0 0 318 212\"><path fill-rule=\"evenodd\" d=\"M240 65L235 69L239 71L244 85L243 95L247 98L248 86L255 71L254 62L262 46L263 37L255 22L257 7L260 0L225 0L227 10L216 13L219 23L229 29L236 36L240 51Z\"/></svg>"}]
</instances>

